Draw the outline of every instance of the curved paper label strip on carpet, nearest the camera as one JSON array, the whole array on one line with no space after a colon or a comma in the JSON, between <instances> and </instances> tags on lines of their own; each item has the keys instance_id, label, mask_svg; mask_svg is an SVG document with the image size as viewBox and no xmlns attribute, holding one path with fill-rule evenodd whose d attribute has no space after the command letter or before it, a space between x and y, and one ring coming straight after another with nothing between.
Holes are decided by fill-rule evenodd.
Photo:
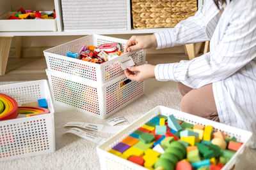
<instances>
[{"instance_id":1,"label":"curved paper label strip on carpet, nearest the camera","mask_svg":"<svg viewBox=\"0 0 256 170\"><path fill-rule=\"evenodd\" d=\"M106 141L106 138L101 138L95 134L90 134L88 132L84 132L81 129L78 129L76 127L73 127L71 129L69 129L66 133L71 133L71 134L76 134L77 136L87 139L89 141L92 141L93 143L103 143L104 141Z\"/></svg>"}]
</instances>

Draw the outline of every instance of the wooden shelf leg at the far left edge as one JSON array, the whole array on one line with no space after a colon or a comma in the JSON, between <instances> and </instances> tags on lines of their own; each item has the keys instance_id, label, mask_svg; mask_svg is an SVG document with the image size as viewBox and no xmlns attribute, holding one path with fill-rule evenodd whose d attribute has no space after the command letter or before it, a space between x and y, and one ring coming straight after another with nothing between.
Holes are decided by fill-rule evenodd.
<instances>
[{"instance_id":1,"label":"wooden shelf leg at the far left edge","mask_svg":"<svg viewBox=\"0 0 256 170\"><path fill-rule=\"evenodd\" d=\"M13 36L0 36L0 76L5 74Z\"/></svg>"}]
</instances>

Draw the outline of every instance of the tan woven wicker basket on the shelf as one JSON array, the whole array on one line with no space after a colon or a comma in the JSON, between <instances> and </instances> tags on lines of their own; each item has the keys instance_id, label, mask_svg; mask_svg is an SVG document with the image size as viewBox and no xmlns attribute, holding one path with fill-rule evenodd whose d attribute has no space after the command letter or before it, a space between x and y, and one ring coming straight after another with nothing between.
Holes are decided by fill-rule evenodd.
<instances>
[{"instance_id":1,"label":"tan woven wicker basket on the shelf","mask_svg":"<svg viewBox=\"0 0 256 170\"><path fill-rule=\"evenodd\" d=\"M133 28L174 27L196 10L196 0L132 0Z\"/></svg>"}]
</instances>

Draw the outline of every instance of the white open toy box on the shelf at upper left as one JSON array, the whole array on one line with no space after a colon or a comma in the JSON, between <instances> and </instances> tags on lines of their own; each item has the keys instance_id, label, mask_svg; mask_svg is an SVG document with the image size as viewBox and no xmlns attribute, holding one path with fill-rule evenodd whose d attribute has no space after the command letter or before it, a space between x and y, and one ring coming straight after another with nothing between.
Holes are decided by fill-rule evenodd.
<instances>
[{"instance_id":1,"label":"white open toy box on the shelf at upper left","mask_svg":"<svg viewBox=\"0 0 256 170\"><path fill-rule=\"evenodd\" d=\"M40 11L47 14L52 11ZM8 12L0 17L0 31L57 31L56 18L54 19L28 19L8 20L16 12Z\"/></svg>"}]
</instances>

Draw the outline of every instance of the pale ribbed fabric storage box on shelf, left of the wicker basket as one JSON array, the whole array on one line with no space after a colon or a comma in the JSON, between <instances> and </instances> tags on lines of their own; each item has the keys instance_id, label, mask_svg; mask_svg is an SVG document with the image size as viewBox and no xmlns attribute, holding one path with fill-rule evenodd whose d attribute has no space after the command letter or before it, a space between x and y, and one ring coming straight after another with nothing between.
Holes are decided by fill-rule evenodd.
<instances>
[{"instance_id":1,"label":"pale ribbed fabric storage box on shelf, left of the wicker basket","mask_svg":"<svg viewBox=\"0 0 256 170\"><path fill-rule=\"evenodd\" d=\"M129 1L61 0L64 31L127 30Z\"/></svg>"}]
</instances>

